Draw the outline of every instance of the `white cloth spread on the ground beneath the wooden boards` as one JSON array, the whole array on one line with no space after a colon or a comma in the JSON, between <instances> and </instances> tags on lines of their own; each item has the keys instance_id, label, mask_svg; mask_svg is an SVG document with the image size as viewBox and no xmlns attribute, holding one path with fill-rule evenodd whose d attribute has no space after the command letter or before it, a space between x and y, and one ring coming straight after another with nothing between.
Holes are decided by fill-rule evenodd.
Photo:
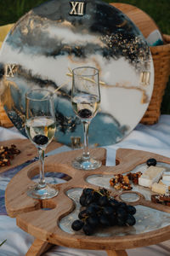
<instances>
[{"instance_id":1,"label":"white cloth spread on the ground beneath the wooden boards","mask_svg":"<svg viewBox=\"0 0 170 256\"><path fill-rule=\"evenodd\" d=\"M24 138L15 128L5 129L0 127L0 140ZM142 125L137 127L122 140L122 142L106 147L107 166L115 164L117 148L133 148L154 152L170 157L170 115L161 115L156 125ZM0 179L1 183L1 179ZM3 186L3 184L1 184ZM6 184L4 184L6 186ZM170 235L169 235L170 236ZM14 218L0 215L0 243L7 241L0 247L0 256L24 256L31 246L33 237L20 230ZM139 247L127 250L129 256L167 256L170 255L170 241L150 247ZM78 250L67 247L53 247L44 256L105 256L102 251Z\"/></svg>"}]
</instances>

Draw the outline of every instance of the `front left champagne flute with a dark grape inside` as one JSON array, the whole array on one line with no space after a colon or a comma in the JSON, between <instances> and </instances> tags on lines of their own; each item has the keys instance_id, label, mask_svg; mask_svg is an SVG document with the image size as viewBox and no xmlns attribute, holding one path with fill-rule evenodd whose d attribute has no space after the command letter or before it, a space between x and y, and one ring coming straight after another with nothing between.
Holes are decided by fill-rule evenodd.
<instances>
[{"instance_id":1,"label":"front left champagne flute with a dark grape inside","mask_svg":"<svg viewBox=\"0 0 170 256\"><path fill-rule=\"evenodd\" d=\"M27 195L36 199L48 199L58 194L58 190L47 184L44 177L44 151L53 140L56 129L53 96L46 89L26 93L26 133L36 146L40 161L39 182L28 189Z\"/></svg>"}]
</instances>

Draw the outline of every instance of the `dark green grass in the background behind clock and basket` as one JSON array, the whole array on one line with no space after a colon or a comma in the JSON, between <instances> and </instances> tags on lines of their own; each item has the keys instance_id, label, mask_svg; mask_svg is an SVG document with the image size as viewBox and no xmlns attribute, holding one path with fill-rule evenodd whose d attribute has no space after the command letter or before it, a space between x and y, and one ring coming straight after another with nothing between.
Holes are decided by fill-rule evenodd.
<instances>
[{"instance_id":1,"label":"dark green grass in the background behind clock and basket","mask_svg":"<svg viewBox=\"0 0 170 256\"><path fill-rule=\"evenodd\" d=\"M47 0L0 0L0 26L14 23L33 7ZM170 35L169 0L104 0L107 3L129 3L144 10L156 21L162 33ZM69 2L69 0L68 0ZM170 79L161 104L161 113L170 114Z\"/></svg>"}]
</instances>

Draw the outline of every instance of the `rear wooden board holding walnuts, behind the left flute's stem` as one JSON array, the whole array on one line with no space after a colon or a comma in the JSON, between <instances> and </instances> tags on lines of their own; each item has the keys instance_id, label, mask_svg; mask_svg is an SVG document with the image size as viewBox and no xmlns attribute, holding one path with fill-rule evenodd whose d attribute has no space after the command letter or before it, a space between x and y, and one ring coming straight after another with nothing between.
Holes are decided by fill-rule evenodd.
<instances>
[{"instance_id":1,"label":"rear wooden board holding walnuts, behind the left flute's stem","mask_svg":"<svg viewBox=\"0 0 170 256\"><path fill-rule=\"evenodd\" d=\"M29 139L14 139L3 141L0 142L0 147L10 147L11 144L14 144L18 149L20 149L20 154L14 156L14 160L11 160L10 166L0 166L0 173L8 171L8 169L14 168L15 166L19 166L25 163L27 160L31 160L37 156L37 148L34 146L34 144L31 143ZM54 148L59 148L61 146L62 144L53 141L48 145L45 153L48 153Z\"/></svg>"}]
</instances>

